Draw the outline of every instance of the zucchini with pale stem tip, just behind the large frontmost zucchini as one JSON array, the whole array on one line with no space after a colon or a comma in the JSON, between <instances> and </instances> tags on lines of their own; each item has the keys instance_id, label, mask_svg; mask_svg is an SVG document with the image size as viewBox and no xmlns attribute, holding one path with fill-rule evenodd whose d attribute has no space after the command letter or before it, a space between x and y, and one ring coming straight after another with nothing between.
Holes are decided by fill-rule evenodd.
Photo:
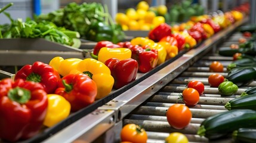
<instances>
[{"instance_id":1,"label":"zucchini with pale stem tip, just behind the large frontmost zucchini","mask_svg":"<svg viewBox=\"0 0 256 143\"><path fill-rule=\"evenodd\" d=\"M227 110L233 109L251 109L256 110L256 95L246 95L243 97L234 98L226 103L225 108Z\"/></svg>"}]
</instances>

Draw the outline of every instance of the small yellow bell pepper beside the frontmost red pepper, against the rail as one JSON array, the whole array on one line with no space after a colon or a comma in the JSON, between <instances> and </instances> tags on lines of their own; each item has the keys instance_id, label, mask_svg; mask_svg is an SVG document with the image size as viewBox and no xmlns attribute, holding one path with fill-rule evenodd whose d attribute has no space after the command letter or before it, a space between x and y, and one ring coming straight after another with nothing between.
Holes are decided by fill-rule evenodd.
<instances>
[{"instance_id":1,"label":"small yellow bell pepper beside the frontmost red pepper, against the rail","mask_svg":"<svg viewBox=\"0 0 256 143\"><path fill-rule=\"evenodd\" d=\"M71 105L64 97L57 94L48 94L47 114L44 119L44 125L52 127L61 120L66 119L70 114Z\"/></svg>"}]
</instances>

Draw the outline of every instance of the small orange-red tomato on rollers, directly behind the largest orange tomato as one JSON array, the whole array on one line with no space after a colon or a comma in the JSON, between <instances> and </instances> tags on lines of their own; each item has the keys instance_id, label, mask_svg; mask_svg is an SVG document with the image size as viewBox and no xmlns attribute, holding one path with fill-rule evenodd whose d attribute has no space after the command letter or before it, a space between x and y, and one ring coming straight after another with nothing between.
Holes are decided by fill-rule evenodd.
<instances>
[{"instance_id":1,"label":"small orange-red tomato on rollers, directly behind the largest orange tomato","mask_svg":"<svg viewBox=\"0 0 256 143\"><path fill-rule=\"evenodd\" d=\"M199 93L194 88L185 88L182 92L183 101L187 106L193 106L199 102Z\"/></svg>"}]
</instances>

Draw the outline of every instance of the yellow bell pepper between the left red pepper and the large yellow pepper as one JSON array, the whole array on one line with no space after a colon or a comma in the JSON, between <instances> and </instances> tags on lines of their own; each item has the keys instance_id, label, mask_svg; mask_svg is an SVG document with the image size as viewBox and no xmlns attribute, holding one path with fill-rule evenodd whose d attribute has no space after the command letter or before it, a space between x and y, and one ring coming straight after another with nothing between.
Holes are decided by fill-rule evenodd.
<instances>
[{"instance_id":1,"label":"yellow bell pepper between the left red pepper and the large yellow pepper","mask_svg":"<svg viewBox=\"0 0 256 143\"><path fill-rule=\"evenodd\" d=\"M67 58L64 60L62 57L54 57L49 65L52 66L61 76L66 76L72 69L76 69L78 63L82 59L79 58Z\"/></svg>"}]
</instances>

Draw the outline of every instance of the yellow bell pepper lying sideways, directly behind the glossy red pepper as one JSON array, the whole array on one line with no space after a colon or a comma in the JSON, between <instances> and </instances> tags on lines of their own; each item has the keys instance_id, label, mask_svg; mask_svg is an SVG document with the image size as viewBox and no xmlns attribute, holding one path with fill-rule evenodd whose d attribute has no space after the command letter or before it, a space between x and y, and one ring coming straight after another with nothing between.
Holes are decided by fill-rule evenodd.
<instances>
[{"instance_id":1,"label":"yellow bell pepper lying sideways, directly behind the glossy red pepper","mask_svg":"<svg viewBox=\"0 0 256 143\"><path fill-rule=\"evenodd\" d=\"M106 48L103 47L98 52L98 61L105 63L110 58L118 58L118 60L125 60L131 58L131 49L128 48Z\"/></svg>"}]
</instances>

